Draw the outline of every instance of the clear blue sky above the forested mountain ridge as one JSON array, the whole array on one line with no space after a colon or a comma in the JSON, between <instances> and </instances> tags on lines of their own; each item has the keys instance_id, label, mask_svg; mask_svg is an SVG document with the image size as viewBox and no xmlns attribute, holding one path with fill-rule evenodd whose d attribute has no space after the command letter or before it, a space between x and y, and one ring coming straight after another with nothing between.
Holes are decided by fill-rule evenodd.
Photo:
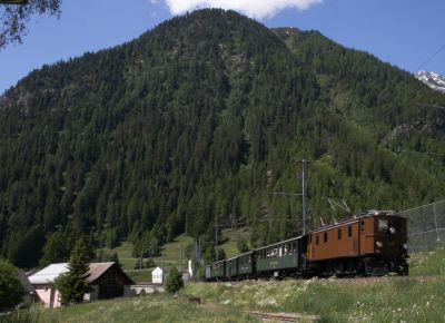
<instances>
[{"instance_id":1,"label":"clear blue sky above the forested mountain ridge","mask_svg":"<svg viewBox=\"0 0 445 323\"><path fill-rule=\"evenodd\" d=\"M243 1L246 3L237 7ZM319 3L305 10L266 8L266 16L264 11L256 14L261 1L266 7ZM171 18L179 7L191 9L197 3L235 6L249 10L268 27L319 30L338 43L368 51L405 70L445 75L444 0L65 0L60 19L32 20L22 45L0 51L0 94L43 63L129 41ZM444 49L432 58L439 48Z\"/></svg>"}]
</instances>

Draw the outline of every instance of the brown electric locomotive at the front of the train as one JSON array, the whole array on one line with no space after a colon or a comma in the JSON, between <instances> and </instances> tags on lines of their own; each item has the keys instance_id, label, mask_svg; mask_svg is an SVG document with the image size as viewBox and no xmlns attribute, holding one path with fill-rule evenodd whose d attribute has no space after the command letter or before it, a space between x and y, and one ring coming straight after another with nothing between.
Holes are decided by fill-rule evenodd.
<instances>
[{"instance_id":1,"label":"brown electric locomotive at the front of the train","mask_svg":"<svg viewBox=\"0 0 445 323\"><path fill-rule=\"evenodd\" d=\"M407 222L388 211L369 211L309 233L309 275L408 274Z\"/></svg>"}]
</instances>

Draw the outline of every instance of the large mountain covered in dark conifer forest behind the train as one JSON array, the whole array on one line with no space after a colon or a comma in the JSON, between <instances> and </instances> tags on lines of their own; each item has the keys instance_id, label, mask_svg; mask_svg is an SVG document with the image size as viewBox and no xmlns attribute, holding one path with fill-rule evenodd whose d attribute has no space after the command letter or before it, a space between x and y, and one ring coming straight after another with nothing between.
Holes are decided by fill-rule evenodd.
<instances>
[{"instance_id":1,"label":"large mountain covered in dark conifer forest behind the train","mask_svg":"<svg viewBox=\"0 0 445 323\"><path fill-rule=\"evenodd\" d=\"M445 96L317 31L200 10L121 46L30 72L0 98L0 253L62 261L72 241L156 255L215 227L250 245L352 209L443 198ZM47 243L48 242L48 243ZM58 248L56 253L53 248ZM55 255L58 256L55 256ZM51 258L52 256L52 258Z\"/></svg>"}]
</instances>

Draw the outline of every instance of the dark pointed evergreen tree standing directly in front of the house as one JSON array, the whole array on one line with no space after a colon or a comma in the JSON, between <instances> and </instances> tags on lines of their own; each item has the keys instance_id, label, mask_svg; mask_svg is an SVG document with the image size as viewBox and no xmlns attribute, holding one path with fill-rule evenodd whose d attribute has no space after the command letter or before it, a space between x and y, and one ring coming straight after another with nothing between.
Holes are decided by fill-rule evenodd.
<instances>
[{"instance_id":1,"label":"dark pointed evergreen tree standing directly in front of the house","mask_svg":"<svg viewBox=\"0 0 445 323\"><path fill-rule=\"evenodd\" d=\"M68 272L60 275L55 284L61 294L61 304L82 303L83 296L92 290L88 285L89 253L83 239L77 241L68 263Z\"/></svg>"}]
</instances>

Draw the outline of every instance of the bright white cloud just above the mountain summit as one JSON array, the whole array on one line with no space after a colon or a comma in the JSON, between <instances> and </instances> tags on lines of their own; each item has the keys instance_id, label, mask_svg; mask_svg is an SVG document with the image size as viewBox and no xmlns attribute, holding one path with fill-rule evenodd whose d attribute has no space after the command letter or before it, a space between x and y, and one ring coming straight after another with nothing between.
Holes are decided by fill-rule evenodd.
<instances>
[{"instance_id":1,"label":"bright white cloud just above the mountain summit","mask_svg":"<svg viewBox=\"0 0 445 323\"><path fill-rule=\"evenodd\" d=\"M222 8L253 18L273 17L286 8L305 10L323 0L165 0L171 13L178 14L201 8Z\"/></svg>"}]
</instances>

